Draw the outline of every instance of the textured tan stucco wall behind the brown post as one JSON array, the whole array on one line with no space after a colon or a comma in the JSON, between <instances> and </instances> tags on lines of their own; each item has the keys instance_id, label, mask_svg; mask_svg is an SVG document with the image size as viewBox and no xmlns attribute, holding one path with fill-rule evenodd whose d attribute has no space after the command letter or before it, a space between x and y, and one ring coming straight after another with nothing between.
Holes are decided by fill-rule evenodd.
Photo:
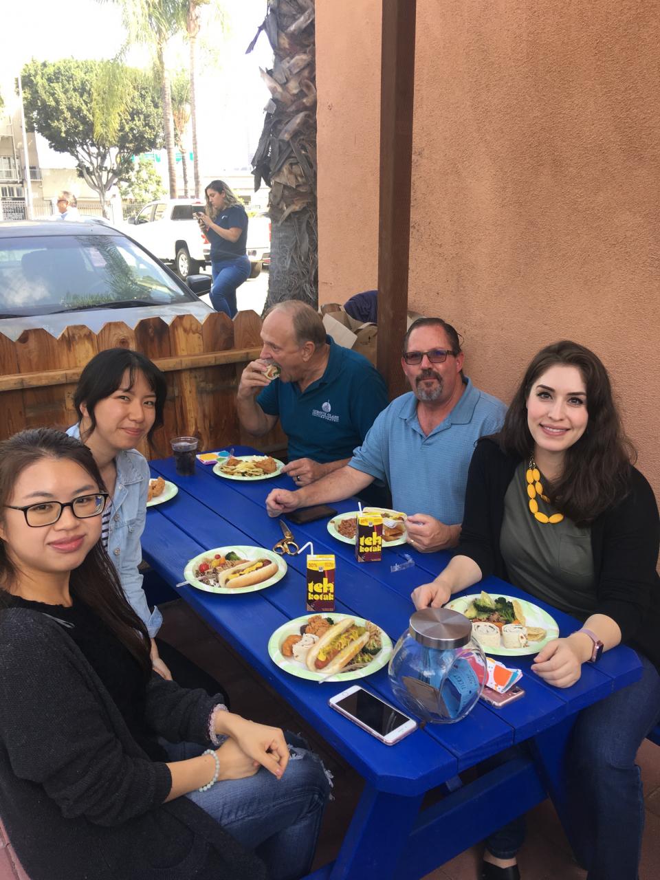
<instances>
[{"instance_id":1,"label":"textured tan stucco wall behind the brown post","mask_svg":"<svg viewBox=\"0 0 660 880\"><path fill-rule=\"evenodd\" d=\"M378 155L348 172L365 175L359 232L326 204L358 133L378 143L364 65L378 68L380 7L356 4L371 37L354 13L361 51L337 55L348 6L317 0L322 302L348 290L356 255L376 272L364 252L378 232ZM658 5L418 0L417 13L409 306L451 319L468 374L503 400L546 343L593 348L660 495Z\"/></svg>"}]
</instances>

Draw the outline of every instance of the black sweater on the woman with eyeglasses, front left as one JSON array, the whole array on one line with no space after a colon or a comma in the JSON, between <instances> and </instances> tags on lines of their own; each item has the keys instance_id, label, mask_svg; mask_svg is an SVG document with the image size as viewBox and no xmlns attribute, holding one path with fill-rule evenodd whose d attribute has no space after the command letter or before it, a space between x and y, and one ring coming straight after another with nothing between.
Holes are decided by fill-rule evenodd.
<instances>
[{"instance_id":1,"label":"black sweater on the woman with eyeglasses, front left","mask_svg":"<svg viewBox=\"0 0 660 880\"><path fill-rule=\"evenodd\" d=\"M218 700L154 674L145 720L208 744ZM31 880L257 880L265 869L136 744L61 624L0 611L0 816Z\"/></svg>"}]
</instances>

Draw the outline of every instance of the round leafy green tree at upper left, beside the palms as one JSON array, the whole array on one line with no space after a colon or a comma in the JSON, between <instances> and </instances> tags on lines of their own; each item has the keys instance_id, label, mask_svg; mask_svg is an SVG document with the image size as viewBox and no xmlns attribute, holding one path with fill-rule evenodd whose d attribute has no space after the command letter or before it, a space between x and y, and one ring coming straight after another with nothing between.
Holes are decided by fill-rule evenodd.
<instances>
[{"instance_id":1,"label":"round leafy green tree at upper left, beside the palms","mask_svg":"<svg viewBox=\"0 0 660 880\"><path fill-rule=\"evenodd\" d=\"M104 213L106 194L131 171L132 157L159 150L163 143L158 89L143 70L121 70L125 100L112 130L95 118L106 64L73 58L33 60L22 72L28 128L44 136L52 150L77 159L77 171L99 194Z\"/></svg>"}]
</instances>

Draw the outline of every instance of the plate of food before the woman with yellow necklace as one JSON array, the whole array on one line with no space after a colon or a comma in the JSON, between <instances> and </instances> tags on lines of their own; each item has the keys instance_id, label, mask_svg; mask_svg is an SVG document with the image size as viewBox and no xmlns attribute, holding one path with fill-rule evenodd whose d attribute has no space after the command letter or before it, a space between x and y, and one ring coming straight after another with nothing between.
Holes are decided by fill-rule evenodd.
<instances>
[{"instance_id":1,"label":"plate of food before the woman with yellow necklace","mask_svg":"<svg viewBox=\"0 0 660 880\"><path fill-rule=\"evenodd\" d=\"M525 599L490 596L482 591L451 599L444 607L472 620L473 637L486 654L538 654L548 642L559 638L557 621Z\"/></svg>"}]
</instances>

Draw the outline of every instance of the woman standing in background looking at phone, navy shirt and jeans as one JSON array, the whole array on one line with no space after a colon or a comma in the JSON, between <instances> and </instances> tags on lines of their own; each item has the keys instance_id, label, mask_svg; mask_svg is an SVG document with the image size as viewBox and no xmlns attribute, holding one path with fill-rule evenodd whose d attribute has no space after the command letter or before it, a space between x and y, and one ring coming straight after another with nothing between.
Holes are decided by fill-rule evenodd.
<instances>
[{"instance_id":1,"label":"woman standing in background looking at phone, navy shirt and jeans","mask_svg":"<svg viewBox=\"0 0 660 880\"><path fill-rule=\"evenodd\" d=\"M236 290L250 276L246 209L224 180L211 180L205 193L206 213L197 218L211 243L210 299L216 312L233 318L237 312Z\"/></svg>"}]
</instances>

